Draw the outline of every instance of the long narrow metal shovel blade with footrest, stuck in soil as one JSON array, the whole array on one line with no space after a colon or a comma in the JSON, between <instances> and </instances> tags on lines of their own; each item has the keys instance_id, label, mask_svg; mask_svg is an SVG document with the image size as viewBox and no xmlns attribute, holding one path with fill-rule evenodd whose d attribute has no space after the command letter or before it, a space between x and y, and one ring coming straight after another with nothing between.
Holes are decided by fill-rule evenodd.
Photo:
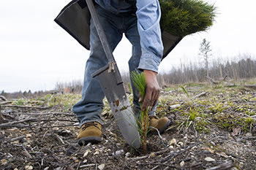
<instances>
[{"instance_id":1,"label":"long narrow metal shovel blade with footrest, stuck in soil","mask_svg":"<svg viewBox=\"0 0 256 170\"><path fill-rule=\"evenodd\" d=\"M138 126L135 120L135 115L132 112L132 107L129 104L127 94L124 90L123 82L118 83L118 68L115 64L114 71L109 71L109 66L105 66L98 72L92 74L92 77L97 76L110 105L116 124L124 136L127 143L134 147L140 147L140 135Z\"/></svg>"}]
</instances>

